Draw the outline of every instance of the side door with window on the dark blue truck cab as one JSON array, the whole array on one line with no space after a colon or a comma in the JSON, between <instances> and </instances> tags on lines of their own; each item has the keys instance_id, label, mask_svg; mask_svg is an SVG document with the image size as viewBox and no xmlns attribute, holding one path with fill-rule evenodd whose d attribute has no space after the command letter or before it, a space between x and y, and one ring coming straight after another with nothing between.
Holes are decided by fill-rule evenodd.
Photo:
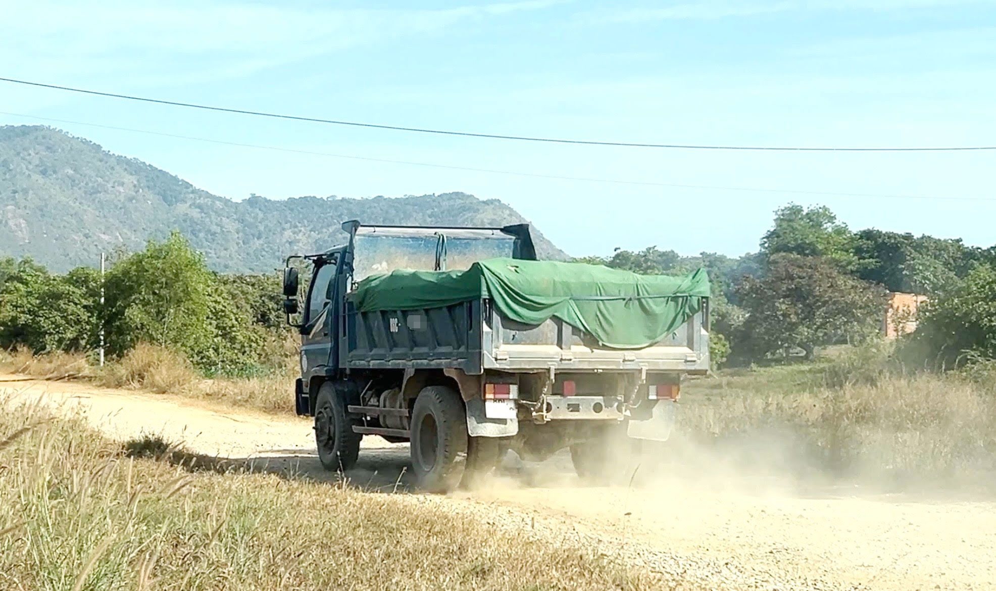
<instances>
[{"instance_id":1,"label":"side door with window on the dark blue truck cab","mask_svg":"<svg viewBox=\"0 0 996 591\"><path fill-rule=\"evenodd\" d=\"M301 331L301 351L307 359L306 374L313 374L318 368L330 365L334 353L336 335L334 333L335 278L338 261L330 260L321 264L312 276L305 306L304 327ZM333 365L336 359L332 359Z\"/></svg>"}]
</instances>

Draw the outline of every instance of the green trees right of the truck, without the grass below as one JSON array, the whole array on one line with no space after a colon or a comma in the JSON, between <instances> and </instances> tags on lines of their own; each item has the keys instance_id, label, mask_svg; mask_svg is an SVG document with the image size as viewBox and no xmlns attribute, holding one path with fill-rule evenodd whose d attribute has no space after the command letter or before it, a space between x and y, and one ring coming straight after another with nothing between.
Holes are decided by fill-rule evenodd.
<instances>
[{"instance_id":1,"label":"green trees right of the truck, without the grass below","mask_svg":"<svg viewBox=\"0 0 996 591\"><path fill-rule=\"evenodd\" d=\"M713 361L750 363L790 351L862 344L881 330L886 292L929 296L909 361L951 367L996 358L996 246L877 229L852 231L826 206L775 212L756 253L680 256L651 246L583 262L648 274L704 267L712 280Z\"/></svg>"}]
</instances>

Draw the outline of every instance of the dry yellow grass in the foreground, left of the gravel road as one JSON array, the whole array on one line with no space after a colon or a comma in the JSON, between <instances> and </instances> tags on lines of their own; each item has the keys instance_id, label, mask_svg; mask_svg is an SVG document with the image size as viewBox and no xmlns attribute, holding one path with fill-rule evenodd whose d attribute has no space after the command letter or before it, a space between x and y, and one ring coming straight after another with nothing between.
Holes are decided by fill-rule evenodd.
<instances>
[{"instance_id":1,"label":"dry yellow grass in the foreground, left of the gravel road","mask_svg":"<svg viewBox=\"0 0 996 591\"><path fill-rule=\"evenodd\" d=\"M82 422L0 414L0 588L659 589L415 495L124 456Z\"/></svg>"}]
</instances>

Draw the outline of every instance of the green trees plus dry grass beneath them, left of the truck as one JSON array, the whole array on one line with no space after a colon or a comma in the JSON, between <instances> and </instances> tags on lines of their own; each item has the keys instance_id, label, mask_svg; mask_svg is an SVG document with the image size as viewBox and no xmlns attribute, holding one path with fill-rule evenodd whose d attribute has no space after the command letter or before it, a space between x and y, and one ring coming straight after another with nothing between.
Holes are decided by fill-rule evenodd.
<instances>
[{"instance_id":1,"label":"green trees plus dry grass beneath them, left of the truck","mask_svg":"<svg viewBox=\"0 0 996 591\"><path fill-rule=\"evenodd\" d=\"M101 287L94 269L0 259L0 369L293 412L297 349L276 273L214 273L174 232L113 257L103 306Z\"/></svg>"}]
</instances>

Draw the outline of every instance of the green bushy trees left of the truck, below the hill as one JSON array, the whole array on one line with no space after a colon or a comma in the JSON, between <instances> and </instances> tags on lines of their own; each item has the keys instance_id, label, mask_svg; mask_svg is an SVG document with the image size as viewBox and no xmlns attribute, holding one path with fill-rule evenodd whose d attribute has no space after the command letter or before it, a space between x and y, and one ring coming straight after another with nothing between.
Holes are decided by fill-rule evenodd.
<instances>
[{"instance_id":1,"label":"green bushy trees left of the truck, below the hill","mask_svg":"<svg viewBox=\"0 0 996 591\"><path fill-rule=\"evenodd\" d=\"M182 353L206 374L265 369L284 338L274 274L218 274L173 232L144 250L112 257L100 272L50 273L29 258L0 258L0 347L36 353L96 351L120 356L147 342Z\"/></svg>"}]
</instances>

